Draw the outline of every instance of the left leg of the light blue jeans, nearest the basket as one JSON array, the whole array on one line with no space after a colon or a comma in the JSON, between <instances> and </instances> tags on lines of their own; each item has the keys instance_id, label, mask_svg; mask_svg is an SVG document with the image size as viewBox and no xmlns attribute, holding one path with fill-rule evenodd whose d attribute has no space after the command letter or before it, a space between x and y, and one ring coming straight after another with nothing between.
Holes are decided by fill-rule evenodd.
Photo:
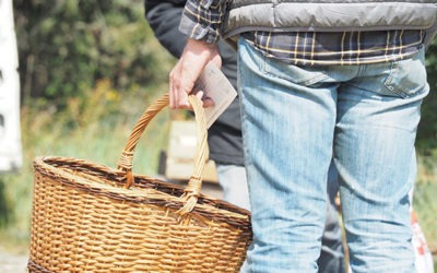
<instances>
[{"instance_id":1,"label":"left leg of the light blue jeans, nearest the basket","mask_svg":"<svg viewBox=\"0 0 437 273\"><path fill-rule=\"evenodd\" d=\"M332 92L303 85L324 73L264 59L243 39L238 52L253 230L247 265L250 272L317 272L335 119Z\"/></svg>"}]
</instances>

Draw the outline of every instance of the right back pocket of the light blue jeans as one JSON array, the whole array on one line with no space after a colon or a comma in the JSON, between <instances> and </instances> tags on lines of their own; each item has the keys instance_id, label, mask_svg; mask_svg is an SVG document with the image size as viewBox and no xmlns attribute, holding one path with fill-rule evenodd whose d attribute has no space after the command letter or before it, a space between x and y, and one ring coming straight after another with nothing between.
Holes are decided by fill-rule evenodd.
<instances>
[{"instance_id":1,"label":"right back pocket of the light blue jeans","mask_svg":"<svg viewBox=\"0 0 437 273\"><path fill-rule=\"evenodd\" d=\"M385 81L386 92L408 98L426 91L426 69L423 51L411 59L394 61Z\"/></svg>"}]
</instances>

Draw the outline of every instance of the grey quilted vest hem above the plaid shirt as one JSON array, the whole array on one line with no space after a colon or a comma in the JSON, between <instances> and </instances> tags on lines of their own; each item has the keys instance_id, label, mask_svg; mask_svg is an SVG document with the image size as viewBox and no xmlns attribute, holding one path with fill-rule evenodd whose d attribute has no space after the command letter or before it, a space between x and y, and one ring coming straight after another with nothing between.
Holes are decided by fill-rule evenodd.
<instances>
[{"instance_id":1,"label":"grey quilted vest hem above the plaid shirt","mask_svg":"<svg viewBox=\"0 0 437 273\"><path fill-rule=\"evenodd\" d=\"M430 44L437 31L437 0L233 0L222 36L387 29L423 29L425 44Z\"/></svg>"}]
</instances>

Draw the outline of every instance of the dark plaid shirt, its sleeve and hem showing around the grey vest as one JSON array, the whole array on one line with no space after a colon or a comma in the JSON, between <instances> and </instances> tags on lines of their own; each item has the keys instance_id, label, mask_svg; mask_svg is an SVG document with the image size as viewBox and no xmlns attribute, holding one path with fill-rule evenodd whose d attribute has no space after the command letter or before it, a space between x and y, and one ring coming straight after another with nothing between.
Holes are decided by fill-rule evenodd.
<instances>
[{"instance_id":1,"label":"dark plaid shirt, its sleeve and hem showing around the grey vest","mask_svg":"<svg viewBox=\"0 0 437 273\"><path fill-rule=\"evenodd\" d=\"M193 39L215 43L220 38L231 0L188 0L181 32ZM394 61L416 54L423 31L378 32L264 32L243 33L265 56L294 64L367 64Z\"/></svg>"}]
</instances>

